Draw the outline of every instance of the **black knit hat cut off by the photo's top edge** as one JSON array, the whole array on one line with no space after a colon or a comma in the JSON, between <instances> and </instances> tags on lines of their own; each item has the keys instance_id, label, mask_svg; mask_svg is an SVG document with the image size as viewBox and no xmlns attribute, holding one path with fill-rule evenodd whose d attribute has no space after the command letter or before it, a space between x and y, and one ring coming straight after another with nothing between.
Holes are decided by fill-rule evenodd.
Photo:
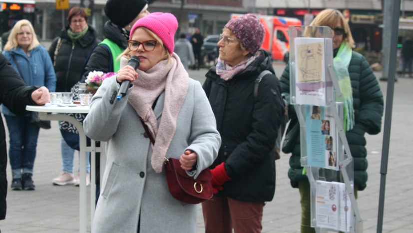
<instances>
[{"instance_id":1,"label":"black knit hat cut off by the photo's top edge","mask_svg":"<svg viewBox=\"0 0 413 233\"><path fill-rule=\"evenodd\" d=\"M118 27L128 25L148 4L146 0L108 0L104 10L106 16Z\"/></svg>"}]
</instances>

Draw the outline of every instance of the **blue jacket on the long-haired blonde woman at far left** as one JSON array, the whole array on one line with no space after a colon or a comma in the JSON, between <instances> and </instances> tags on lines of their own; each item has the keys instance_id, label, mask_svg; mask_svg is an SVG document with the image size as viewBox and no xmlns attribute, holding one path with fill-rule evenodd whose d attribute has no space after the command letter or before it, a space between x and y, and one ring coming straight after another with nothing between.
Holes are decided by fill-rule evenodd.
<instances>
[{"instance_id":1,"label":"blue jacket on the long-haired blonde woman at far left","mask_svg":"<svg viewBox=\"0 0 413 233\"><path fill-rule=\"evenodd\" d=\"M3 54L27 85L39 87L45 86L49 89L49 92L55 91L56 75L50 56L43 46L39 45L30 50L30 57L28 57L20 47L13 48L10 51L3 51ZM18 69L14 63L13 57L18 63ZM1 112L4 115L15 116L4 105L1 105Z\"/></svg>"}]
</instances>

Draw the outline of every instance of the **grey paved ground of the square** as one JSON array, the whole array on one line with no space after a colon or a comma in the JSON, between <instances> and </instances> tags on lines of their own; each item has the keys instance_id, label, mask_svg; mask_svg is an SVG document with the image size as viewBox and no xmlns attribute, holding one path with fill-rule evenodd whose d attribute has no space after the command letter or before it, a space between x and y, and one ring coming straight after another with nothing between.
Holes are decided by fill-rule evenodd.
<instances>
[{"instance_id":1,"label":"grey paved ground of the square","mask_svg":"<svg viewBox=\"0 0 413 233\"><path fill-rule=\"evenodd\" d=\"M277 76L285 65L274 63ZM189 74L201 83L206 69L190 70ZM382 77L380 72L375 73ZM387 82L380 81L386 96ZM398 78L395 83L389 162L386 174L383 233L413 232L413 183L408 176L413 165L410 151L413 132L413 79ZM385 97L386 101L386 97ZM385 118L383 118L384 125ZM382 127L383 129L383 127ZM8 134L8 133L6 133ZM74 233L79 230L79 188L53 186L51 180L61 172L60 133L57 122L52 128L40 130L33 180L35 191L11 191L8 187L7 215L0 221L2 233ZM8 142L8 141L7 141ZM383 130L378 135L367 135L369 180L367 188L359 192L358 208L363 219L363 232L376 233L378 225L379 193L382 175ZM409 152L410 151L410 152ZM298 189L290 186L287 177L289 155L281 154L276 161L276 191L272 202L264 207L263 233L299 233L301 209ZM75 169L78 156L75 156ZM10 182L11 172L7 166ZM384 175L383 175L384 177ZM88 192L90 187L88 187ZM88 194L87 197L90 195ZM90 202L88 203L90 205ZM198 205L198 233L204 232L201 206ZM87 208L89 213L89 207ZM161 211L161 210L154 210ZM88 218L89 214L88 214ZM90 219L88 230L90 231Z\"/></svg>"}]
</instances>

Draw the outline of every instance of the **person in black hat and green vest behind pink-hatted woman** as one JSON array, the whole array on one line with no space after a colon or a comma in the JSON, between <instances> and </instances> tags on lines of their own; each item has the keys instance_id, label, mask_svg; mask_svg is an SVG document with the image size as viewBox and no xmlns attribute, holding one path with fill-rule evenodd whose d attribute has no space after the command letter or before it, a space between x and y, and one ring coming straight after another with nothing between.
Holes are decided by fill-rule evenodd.
<instances>
[{"instance_id":1,"label":"person in black hat and green vest behind pink-hatted woman","mask_svg":"<svg viewBox=\"0 0 413 233\"><path fill-rule=\"evenodd\" d=\"M149 11L146 0L108 0L104 11L109 18L103 27L105 39L96 46L89 60L85 64L85 72L82 82L86 80L90 71L102 71L103 73L117 72L120 67L118 56L127 48L129 31L131 26ZM100 159L96 154L96 202L99 198L100 184Z\"/></svg>"}]
</instances>

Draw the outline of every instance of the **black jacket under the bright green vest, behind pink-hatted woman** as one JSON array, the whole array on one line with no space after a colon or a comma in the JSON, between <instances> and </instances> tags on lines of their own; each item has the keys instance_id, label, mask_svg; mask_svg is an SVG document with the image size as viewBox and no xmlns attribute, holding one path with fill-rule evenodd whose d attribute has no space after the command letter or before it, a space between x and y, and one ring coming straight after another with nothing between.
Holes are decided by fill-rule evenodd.
<instances>
[{"instance_id":1,"label":"black jacket under the bright green vest, behind pink-hatted woman","mask_svg":"<svg viewBox=\"0 0 413 233\"><path fill-rule=\"evenodd\" d=\"M121 33L121 29L112 24L110 21L106 21L103 27L103 35L105 38L110 39L120 47L126 49L126 37ZM89 61L85 66L85 73L83 73L82 80L86 80L89 72L93 70L102 71L103 73L113 72L113 70L111 70L113 68L109 68L110 59L112 59L110 50L108 50L104 45L98 45L95 49L93 49L93 52L90 55Z\"/></svg>"}]
</instances>

